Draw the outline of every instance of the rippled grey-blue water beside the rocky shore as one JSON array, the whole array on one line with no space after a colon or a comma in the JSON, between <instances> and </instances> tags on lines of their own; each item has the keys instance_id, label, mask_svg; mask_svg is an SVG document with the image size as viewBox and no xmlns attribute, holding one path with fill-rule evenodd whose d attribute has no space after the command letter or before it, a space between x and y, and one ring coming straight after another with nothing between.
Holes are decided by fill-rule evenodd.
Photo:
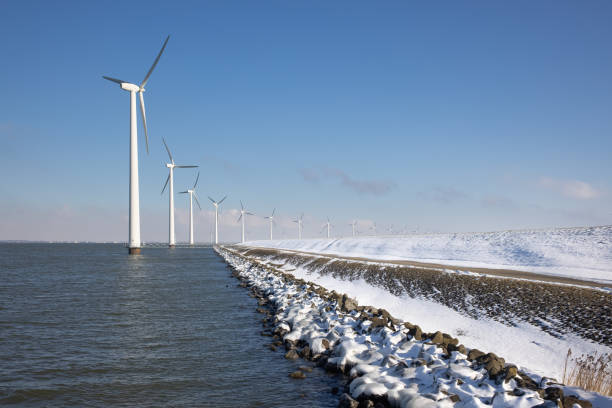
<instances>
[{"instance_id":1,"label":"rippled grey-blue water beside the rocky shore","mask_svg":"<svg viewBox=\"0 0 612 408\"><path fill-rule=\"evenodd\" d=\"M0 404L337 406L210 248L0 244Z\"/></svg>"}]
</instances>

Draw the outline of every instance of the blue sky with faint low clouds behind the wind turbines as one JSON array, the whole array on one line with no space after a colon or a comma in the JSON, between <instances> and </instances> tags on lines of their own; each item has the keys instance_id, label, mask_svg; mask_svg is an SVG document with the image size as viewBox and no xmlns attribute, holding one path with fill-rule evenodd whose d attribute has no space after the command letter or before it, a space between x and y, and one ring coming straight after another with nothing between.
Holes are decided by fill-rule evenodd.
<instances>
[{"instance_id":1,"label":"blue sky with faint low clouds behind the wind turbines","mask_svg":"<svg viewBox=\"0 0 612 408\"><path fill-rule=\"evenodd\" d=\"M178 3L178 2L177 2ZM9 2L0 239L125 240L128 94L147 85L143 240L165 240L165 137L209 203L361 231L612 223L612 3ZM193 183L176 172L176 188ZM186 239L176 197L177 239ZM265 223L250 220L250 238Z\"/></svg>"}]
</instances>

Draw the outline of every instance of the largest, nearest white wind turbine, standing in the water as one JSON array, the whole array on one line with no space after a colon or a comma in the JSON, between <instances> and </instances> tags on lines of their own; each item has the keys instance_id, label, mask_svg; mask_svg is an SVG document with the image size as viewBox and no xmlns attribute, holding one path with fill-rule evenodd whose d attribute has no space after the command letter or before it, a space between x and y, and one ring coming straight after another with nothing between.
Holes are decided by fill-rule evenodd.
<instances>
[{"instance_id":1,"label":"largest, nearest white wind turbine, standing in the water","mask_svg":"<svg viewBox=\"0 0 612 408\"><path fill-rule=\"evenodd\" d=\"M135 85L117 78L102 76L102 78L119 84L121 89L130 92L130 211L129 211L129 238L128 251L130 254L140 253L140 192L138 188L138 126L136 123L136 92L140 97L140 112L142 114L142 123L145 131L145 142L147 145L147 153L149 153L149 136L147 134L147 115L145 113L144 97L142 93L145 91L145 85L155 69L159 58L168 44L170 36L166 37L161 51L157 54L157 58L153 62L151 69L147 72L145 79L140 85Z\"/></svg>"}]
</instances>

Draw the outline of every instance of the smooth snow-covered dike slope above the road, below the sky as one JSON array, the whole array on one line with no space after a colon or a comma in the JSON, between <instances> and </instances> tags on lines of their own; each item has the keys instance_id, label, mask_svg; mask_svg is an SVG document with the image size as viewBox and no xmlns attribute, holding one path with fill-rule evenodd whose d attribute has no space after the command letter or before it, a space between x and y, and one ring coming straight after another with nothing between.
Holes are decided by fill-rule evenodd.
<instances>
[{"instance_id":1,"label":"smooth snow-covered dike slope above the road, below the sky","mask_svg":"<svg viewBox=\"0 0 612 408\"><path fill-rule=\"evenodd\" d=\"M374 260L512 269L612 284L612 226L251 241L245 245Z\"/></svg>"}]
</instances>

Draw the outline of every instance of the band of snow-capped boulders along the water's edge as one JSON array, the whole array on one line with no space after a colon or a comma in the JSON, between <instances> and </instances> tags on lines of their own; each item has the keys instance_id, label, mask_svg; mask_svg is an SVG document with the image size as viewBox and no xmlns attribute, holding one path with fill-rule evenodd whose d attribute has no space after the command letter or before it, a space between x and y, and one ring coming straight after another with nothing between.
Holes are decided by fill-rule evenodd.
<instances>
[{"instance_id":1,"label":"band of snow-capped boulders along the water's edge","mask_svg":"<svg viewBox=\"0 0 612 408\"><path fill-rule=\"evenodd\" d=\"M563 396L563 389L574 389L527 374L493 353L468 350L446 333L423 333L418 326L401 322L384 309L359 306L347 295L330 292L228 247L217 247L216 251L235 270L236 277L246 286L256 287L266 298L265 303L272 305L272 332L277 341L283 340L287 354L348 376L348 393L342 395L339 406L452 406L470 398L481 403L501 398L508 406L531 406L546 400L568 404L579 401L577 396ZM440 370L449 379L444 384L436 377ZM413 375L410 387L396 381L406 375ZM430 384L432 376L438 378L435 386ZM385 388L377 382L383 378L385 384L391 382L397 387ZM485 398L482 392L478 396L468 392L476 384L490 395Z\"/></svg>"}]
</instances>

